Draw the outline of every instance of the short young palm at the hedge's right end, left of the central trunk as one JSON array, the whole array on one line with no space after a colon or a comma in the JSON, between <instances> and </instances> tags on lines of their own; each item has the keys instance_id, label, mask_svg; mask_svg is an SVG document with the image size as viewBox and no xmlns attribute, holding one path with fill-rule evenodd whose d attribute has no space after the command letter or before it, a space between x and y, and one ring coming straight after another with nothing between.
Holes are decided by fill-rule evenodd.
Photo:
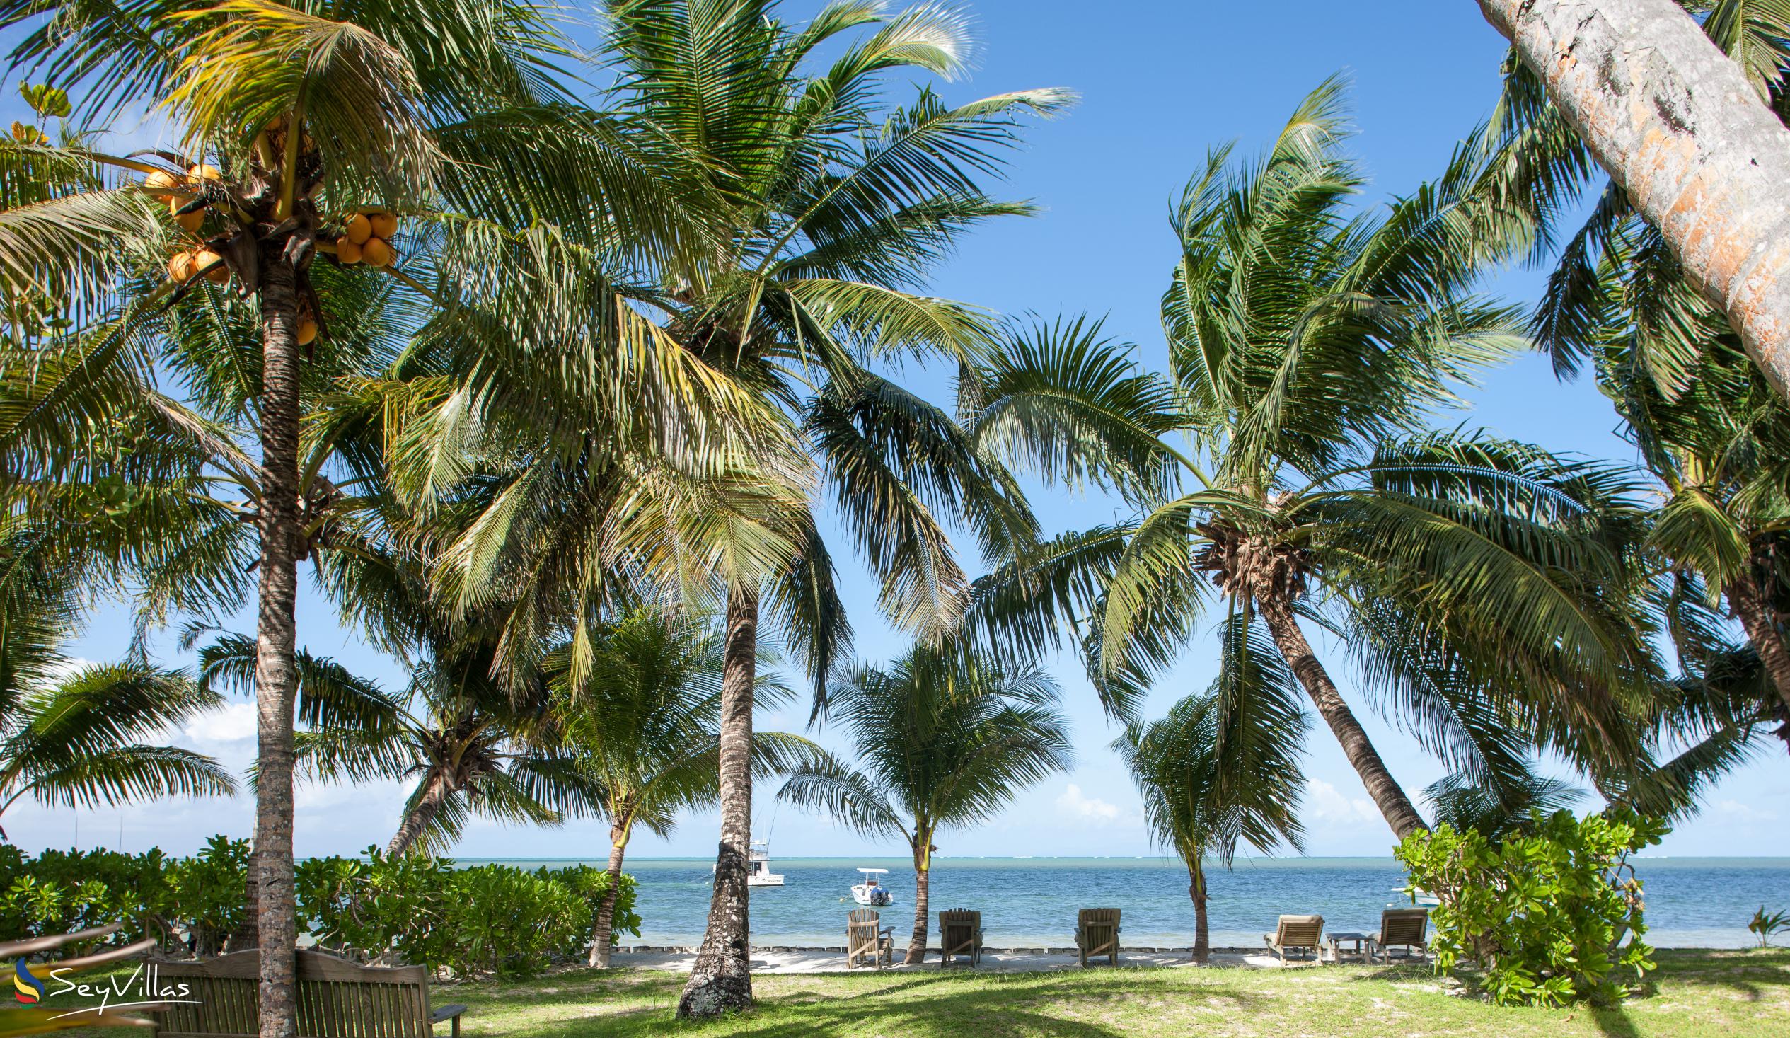
<instances>
[{"instance_id":1,"label":"short young palm at the hedge's right end, left of the central trunk","mask_svg":"<svg viewBox=\"0 0 1790 1038\"><path fill-rule=\"evenodd\" d=\"M596 659L582 685L571 685L567 650L550 655L558 752L576 778L566 796L573 813L609 821L609 893L596 913L591 965L609 968L621 866L644 825L669 836L677 813L720 798L720 712L723 648L705 617L634 610L598 632ZM789 689L759 676L759 705L786 702ZM754 777L789 771L822 757L800 736L754 732Z\"/></svg>"}]
</instances>

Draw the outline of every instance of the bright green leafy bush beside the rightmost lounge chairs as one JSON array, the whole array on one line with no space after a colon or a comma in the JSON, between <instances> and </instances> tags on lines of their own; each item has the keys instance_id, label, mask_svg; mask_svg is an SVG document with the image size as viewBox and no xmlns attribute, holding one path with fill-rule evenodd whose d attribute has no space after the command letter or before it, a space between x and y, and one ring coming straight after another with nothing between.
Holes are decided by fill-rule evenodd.
<instances>
[{"instance_id":1,"label":"bright green leafy bush beside the rightmost lounge chairs","mask_svg":"<svg viewBox=\"0 0 1790 1038\"><path fill-rule=\"evenodd\" d=\"M1636 983L1654 968L1627 857L1663 834L1663 823L1632 813L1557 811L1530 814L1502 843L1439 825L1407 836L1396 854L1411 889L1441 902L1430 913L1437 970L1473 959L1493 1002L1559 1006L1620 999L1618 968Z\"/></svg>"}]
</instances>

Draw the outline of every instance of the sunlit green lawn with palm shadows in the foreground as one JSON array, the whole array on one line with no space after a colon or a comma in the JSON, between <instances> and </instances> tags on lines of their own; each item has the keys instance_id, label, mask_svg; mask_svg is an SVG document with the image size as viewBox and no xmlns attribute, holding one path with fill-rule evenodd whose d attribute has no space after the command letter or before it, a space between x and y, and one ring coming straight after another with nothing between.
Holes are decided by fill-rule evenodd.
<instances>
[{"instance_id":1,"label":"sunlit green lawn with palm shadows in the foreground","mask_svg":"<svg viewBox=\"0 0 1790 1038\"><path fill-rule=\"evenodd\" d=\"M680 975L644 970L448 986L433 997L471 1006L469 1034L514 1038L1790 1034L1790 950L1659 952L1659 966L1650 990L1620 1009L1496 1009L1443 993L1421 966L759 975L757 1009L702 1025L673 1020Z\"/></svg>"}]
</instances>

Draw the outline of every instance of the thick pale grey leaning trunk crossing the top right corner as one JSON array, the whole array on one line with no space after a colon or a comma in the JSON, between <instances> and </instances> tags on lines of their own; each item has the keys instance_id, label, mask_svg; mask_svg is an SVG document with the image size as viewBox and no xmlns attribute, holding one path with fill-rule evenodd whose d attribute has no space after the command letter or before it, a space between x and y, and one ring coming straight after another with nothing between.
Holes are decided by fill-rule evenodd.
<instances>
[{"instance_id":1,"label":"thick pale grey leaning trunk crossing the top right corner","mask_svg":"<svg viewBox=\"0 0 1790 1038\"><path fill-rule=\"evenodd\" d=\"M1790 131L1674 0L1479 0L1790 397Z\"/></svg>"}]
</instances>

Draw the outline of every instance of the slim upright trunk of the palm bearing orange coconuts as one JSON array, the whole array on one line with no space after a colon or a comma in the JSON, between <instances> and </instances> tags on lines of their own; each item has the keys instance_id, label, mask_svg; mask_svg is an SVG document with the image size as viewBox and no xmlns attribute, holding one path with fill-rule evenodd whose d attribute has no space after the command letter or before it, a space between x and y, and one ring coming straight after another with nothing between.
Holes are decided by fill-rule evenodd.
<instances>
[{"instance_id":1,"label":"slim upright trunk of the palm bearing orange coconuts","mask_svg":"<svg viewBox=\"0 0 1790 1038\"><path fill-rule=\"evenodd\" d=\"M294 1038L299 938L292 886L292 710L297 694L299 344L297 274L267 249L261 281L261 589L254 703L256 934L261 945L261 1038Z\"/></svg>"}]
</instances>

